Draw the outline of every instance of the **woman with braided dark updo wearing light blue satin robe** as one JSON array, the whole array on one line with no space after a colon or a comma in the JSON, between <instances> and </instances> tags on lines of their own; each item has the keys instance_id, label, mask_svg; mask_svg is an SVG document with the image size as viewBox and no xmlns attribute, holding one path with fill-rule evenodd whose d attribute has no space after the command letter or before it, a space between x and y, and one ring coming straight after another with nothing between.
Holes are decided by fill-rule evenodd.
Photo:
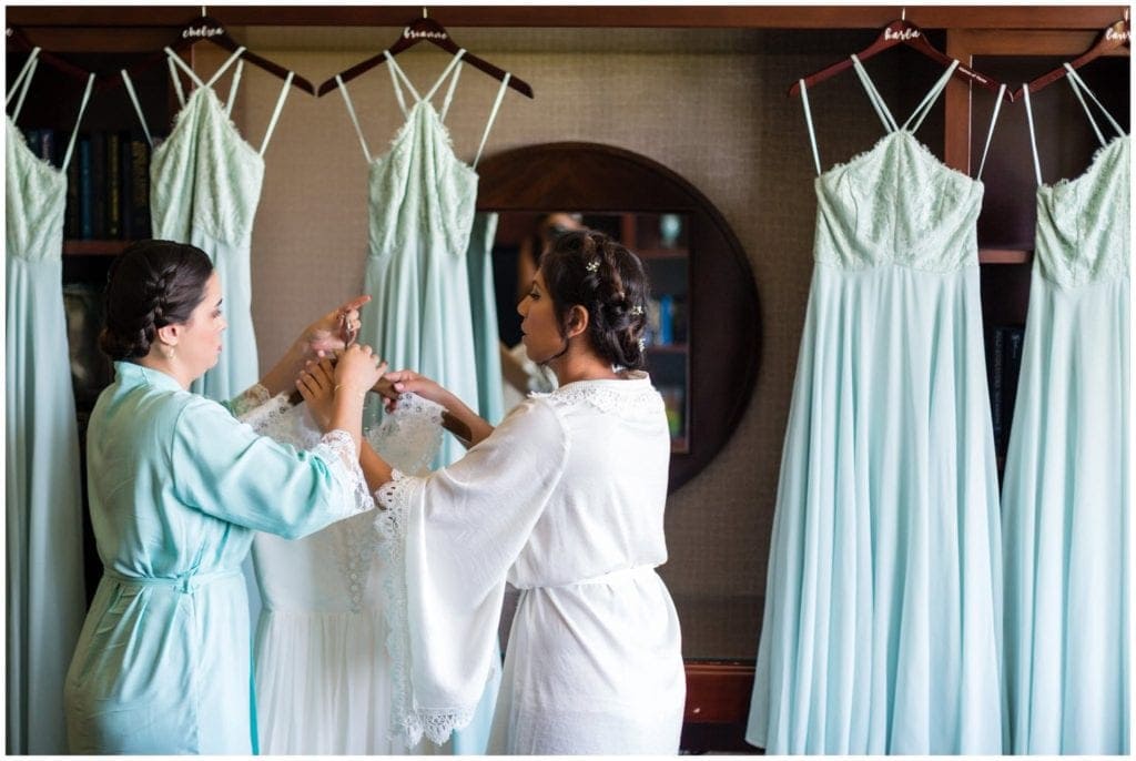
<instances>
[{"instance_id":1,"label":"woman with braided dark updo wearing light blue satin robe","mask_svg":"<svg viewBox=\"0 0 1136 761\"><path fill-rule=\"evenodd\" d=\"M190 393L217 362L220 282L191 245L144 241L111 267L101 344L116 378L91 415L91 519L103 563L67 675L70 751L256 750L241 563L253 530L302 536L369 509L358 466L370 350L336 366L332 425L311 451L257 436L233 412L283 392L314 349L358 327L344 304L314 323L227 407Z\"/></svg>"}]
</instances>

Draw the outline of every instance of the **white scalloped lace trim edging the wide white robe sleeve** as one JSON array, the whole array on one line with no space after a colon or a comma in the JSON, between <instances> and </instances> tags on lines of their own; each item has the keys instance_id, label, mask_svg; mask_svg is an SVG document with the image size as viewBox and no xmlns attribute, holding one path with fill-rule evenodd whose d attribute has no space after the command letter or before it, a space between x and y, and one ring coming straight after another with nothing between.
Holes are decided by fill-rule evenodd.
<instances>
[{"instance_id":1,"label":"white scalloped lace trim edging the wide white robe sleeve","mask_svg":"<svg viewBox=\"0 0 1136 761\"><path fill-rule=\"evenodd\" d=\"M386 572L383 575L386 614L386 650L391 655L391 727L390 736L414 747L425 736L436 745L445 743L454 729L473 721L477 703L453 708L425 709L415 705L410 678L410 621L407 587L407 518L415 496L423 485L421 478L407 476L398 468L391 480L375 492L375 502L386 508L375 519L378 533L378 557Z\"/></svg>"}]
</instances>

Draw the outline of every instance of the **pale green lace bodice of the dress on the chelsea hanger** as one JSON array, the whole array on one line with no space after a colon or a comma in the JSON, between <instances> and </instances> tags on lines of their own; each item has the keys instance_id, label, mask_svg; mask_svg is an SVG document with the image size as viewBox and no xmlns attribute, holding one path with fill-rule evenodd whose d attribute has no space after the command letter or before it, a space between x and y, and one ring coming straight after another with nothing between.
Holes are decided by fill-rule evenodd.
<instances>
[{"instance_id":1,"label":"pale green lace bodice of the dress on the chelsea hanger","mask_svg":"<svg viewBox=\"0 0 1136 761\"><path fill-rule=\"evenodd\" d=\"M241 136L212 87L198 87L150 162L154 237L189 241L191 231L247 244L265 161Z\"/></svg>"}]
</instances>

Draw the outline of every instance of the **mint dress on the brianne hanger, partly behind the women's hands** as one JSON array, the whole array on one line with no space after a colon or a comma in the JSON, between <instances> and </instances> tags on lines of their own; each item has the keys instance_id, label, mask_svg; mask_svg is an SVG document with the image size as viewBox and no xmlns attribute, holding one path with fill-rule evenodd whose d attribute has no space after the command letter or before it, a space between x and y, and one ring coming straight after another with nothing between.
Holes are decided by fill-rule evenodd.
<instances>
[{"instance_id":1,"label":"mint dress on the brianne hanger, partly behind the women's hands","mask_svg":"<svg viewBox=\"0 0 1136 761\"><path fill-rule=\"evenodd\" d=\"M420 95L393 56L384 66L406 123L386 153L371 157L344 84L340 84L348 112L359 134L369 165L369 251L364 288L374 309L364 310L359 341L376 346L392 368L410 368L436 379L467 404L479 405L477 340L496 332L495 302L474 306L468 250L477 201L477 161L496 119L510 75L498 91L474 162L457 157L445 115L461 74L459 50L434 86ZM442 110L432 98L449 78ZM409 104L408 104L409 95ZM481 270L475 268L474 274ZM490 326L490 327L484 327ZM484 329L483 329L484 328ZM495 388L500 398L500 374ZM488 376L486 376L488 379ZM379 405L368 408L368 423L377 423ZM483 417L488 410L478 410ZM465 453L446 436L435 467L449 465Z\"/></svg>"}]
</instances>

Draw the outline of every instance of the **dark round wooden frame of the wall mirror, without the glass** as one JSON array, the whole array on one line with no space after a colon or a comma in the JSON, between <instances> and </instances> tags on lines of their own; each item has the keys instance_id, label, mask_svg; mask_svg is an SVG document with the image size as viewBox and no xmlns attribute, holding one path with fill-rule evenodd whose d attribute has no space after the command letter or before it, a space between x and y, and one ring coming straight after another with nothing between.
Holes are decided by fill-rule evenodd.
<instances>
[{"instance_id":1,"label":"dark round wooden frame of the wall mirror, without the glass","mask_svg":"<svg viewBox=\"0 0 1136 761\"><path fill-rule=\"evenodd\" d=\"M690 451L671 453L674 492L729 441L753 395L761 316L737 236L694 185L611 145L526 145L484 159L477 174L478 211L690 215Z\"/></svg>"}]
</instances>

